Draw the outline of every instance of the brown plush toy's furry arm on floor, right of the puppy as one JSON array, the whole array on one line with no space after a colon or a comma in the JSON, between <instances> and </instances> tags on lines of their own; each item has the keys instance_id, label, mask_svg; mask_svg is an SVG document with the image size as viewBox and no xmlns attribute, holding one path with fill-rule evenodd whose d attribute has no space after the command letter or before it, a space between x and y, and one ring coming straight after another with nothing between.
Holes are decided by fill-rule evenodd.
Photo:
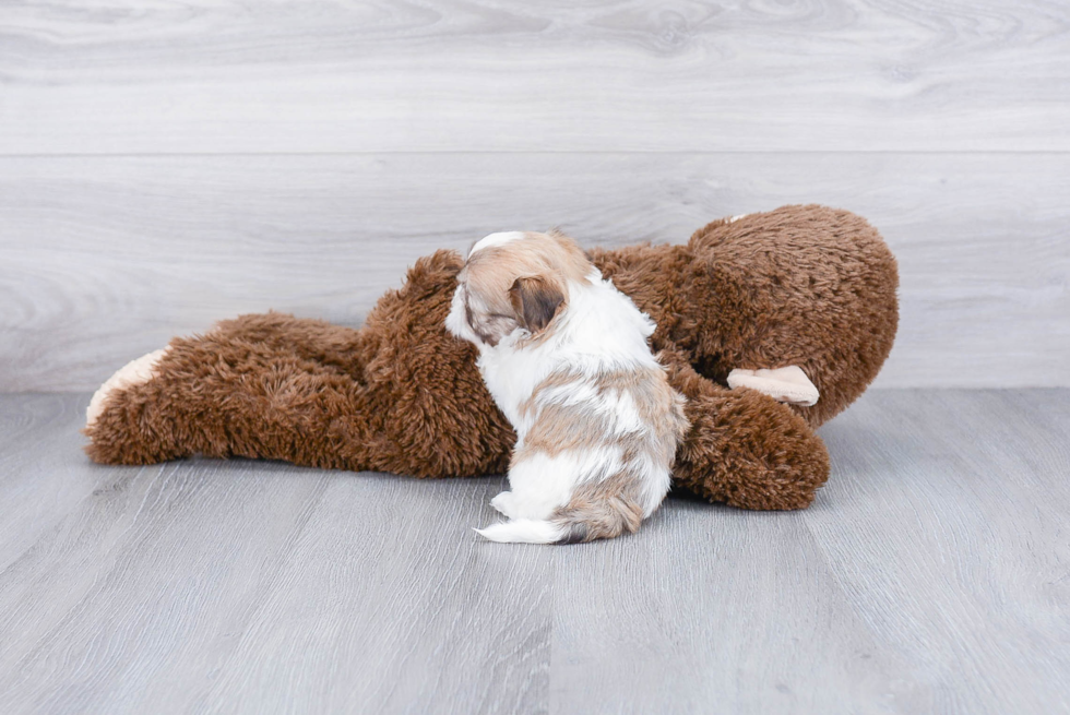
<instances>
[{"instance_id":1,"label":"brown plush toy's furry arm on floor, right of the puppy","mask_svg":"<svg viewBox=\"0 0 1070 715\"><path fill-rule=\"evenodd\" d=\"M757 391L726 390L680 356L666 362L691 421L675 486L742 509L804 509L813 501L829 477L829 454L802 417Z\"/></svg>"}]
</instances>

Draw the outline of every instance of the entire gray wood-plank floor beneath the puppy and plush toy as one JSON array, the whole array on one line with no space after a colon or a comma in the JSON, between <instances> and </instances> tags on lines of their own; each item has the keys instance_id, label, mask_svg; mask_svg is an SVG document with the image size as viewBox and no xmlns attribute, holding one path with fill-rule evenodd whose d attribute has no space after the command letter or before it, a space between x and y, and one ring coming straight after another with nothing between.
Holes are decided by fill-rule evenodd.
<instances>
[{"instance_id":1,"label":"entire gray wood-plank floor beneath the puppy and plush toy","mask_svg":"<svg viewBox=\"0 0 1070 715\"><path fill-rule=\"evenodd\" d=\"M499 477L95 466L0 396L0 712L1056 713L1070 391L890 390L800 513L492 545Z\"/></svg>"}]
</instances>

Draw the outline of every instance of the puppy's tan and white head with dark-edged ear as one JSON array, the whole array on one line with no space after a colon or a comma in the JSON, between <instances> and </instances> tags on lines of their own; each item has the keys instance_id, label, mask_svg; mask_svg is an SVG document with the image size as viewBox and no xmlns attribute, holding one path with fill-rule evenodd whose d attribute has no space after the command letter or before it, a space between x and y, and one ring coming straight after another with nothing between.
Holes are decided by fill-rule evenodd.
<instances>
[{"instance_id":1,"label":"puppy's tan and white head with dark-edged ear","mask_svg":"<svg viewBox=\"0 0 1070 715\"><path fill-rule=\"evenodd\" d=\"M468 251L445 325L490 347L518 329L544 334L568 305L569 285L587 281L592 269L562 234L491 234Z\"/></svg>"}]
</instances>

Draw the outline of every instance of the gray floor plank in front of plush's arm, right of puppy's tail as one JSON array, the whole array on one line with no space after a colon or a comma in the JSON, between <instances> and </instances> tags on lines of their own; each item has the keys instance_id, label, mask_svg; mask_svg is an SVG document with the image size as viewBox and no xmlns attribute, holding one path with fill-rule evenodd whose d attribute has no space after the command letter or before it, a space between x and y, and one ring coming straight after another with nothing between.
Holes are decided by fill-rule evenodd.
<instances>
[{"instance_id":1,"label":"gray floor plank in front of plush's arm, right of puppy's tail","mask_svg":"<svg viewBox=\"0 0 1070 715\"><path fill-rule=\"evenodd\" d=\"M841 593L806 525L834 511L819 500L675 501L639 538L556 552L550 711L931 712L908 654Z\"/></svg>"}]
</instances>

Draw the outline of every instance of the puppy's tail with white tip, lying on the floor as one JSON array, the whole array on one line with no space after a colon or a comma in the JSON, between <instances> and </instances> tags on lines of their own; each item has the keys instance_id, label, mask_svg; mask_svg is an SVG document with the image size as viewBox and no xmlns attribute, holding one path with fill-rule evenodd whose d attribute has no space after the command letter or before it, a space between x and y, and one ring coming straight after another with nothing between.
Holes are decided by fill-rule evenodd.
<instances>
[{"instance_id":1,"label":"puppy's tail with white tip, lying on the floor","mask_svg":"<svg viewBox=\"0 0 1070 715\"><path fill-rule=\"evenodd\" d=\"M548 521L519 519L475 531L491 541L579 544L632 533L642 519L642 510L631 500L613 498L582 504L573 500L572 504L554 512Z\"/></svg>"}]
</instances>

